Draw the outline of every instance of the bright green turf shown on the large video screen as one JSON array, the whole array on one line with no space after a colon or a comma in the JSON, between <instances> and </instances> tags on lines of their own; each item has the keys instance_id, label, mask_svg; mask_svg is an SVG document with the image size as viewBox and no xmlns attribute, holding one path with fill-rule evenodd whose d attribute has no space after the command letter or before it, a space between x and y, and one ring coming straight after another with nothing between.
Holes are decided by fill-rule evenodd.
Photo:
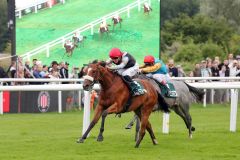
<instances>
[{"instance_id":1,"label":"bright green turf shown on the large video screen","mask_svg":"<svg viewBox=\"0 0 240 160\"><path fill-rule=\"evenodd\" d=\"M75 1L69 1L68 5L72 5L71 3ZM83 1L82 1L83 2ZM87 1L88 2L88 1ZM112 1L111 1L112 2ZM31 48L37 47L42 42L48 42L55 38L58 38L60 35L68 33L75 29L77 26L83 26L86 23L91 22L106 13L110 13L115 11L118 8L126 6L127 3L133 1L113 1L111 3L111 7L109 7L110 0L106 0L104 2L101 1L102 5L106 4L108 7L99 7L101 9L94 12L86 12L78 13L85 16L77 16L77 20L72 20L71 18L52 18L53 16L49 16L51 14L55 15L55 10L61 10L63 7L66 8L65 5L59 5L52 9L41 11L39 14L28 15L27 17L23 17L23 20L17 21L17 50L18 54L23 51L29 51ZM75 2L76 3L76 2ZM85 1L86 3L86 1ZM83 3L83 4L85 4ZM103 4L102 4L103 3ZM67 4L67 3L66 3ZM95 3L94 3L95 4ZM89 4L90 6L91 4ZM96 5L96 4L95 4ZM112 7L113 6L113 7ZM60 8L60 9L59 9ZM64 8L64 9L65 9ZM82 6L80 7L82 8ZM89 8L89 7L88 7ZM141 12L137 11L137 8L131 10L131 17L127 18L126 14L121 15L123 18L122 28L119 26L112 31L110 27L109 36L104 35L102 38L99 37L98 28L94 29L94 35L90 35L90 30L83 33L83 35L87 36L87 40L85 41L84 47L80 47L74 50L72 57L64 57L64 49L59 45L55 48L52 48L50 51L50 57L46 58L46 53L39 54L37 56L33 56L32 58L38 58L42 60L45 64L50 64L51 61L69 61L71 66L81 66L84 63L88 63L93 59L106 59L108 56L108 52L112 47L119 47L123 51L128 51L133 54L139 63L142 62L143 57L147 54L152 54L154 56L159 55L159 14L160 14L160 6L158 1L152 1L153 12L147 16ZM58 11L60 12L60 11ZM49 15L47 15L49 13ZM88 14L89 13L89 14ZM66 10L67 14L67 10ZM56 14L56 17L58 14ZM68 14L68 16L70 16ZM38 18L40 17L40 18ZM47 18L48 21L51 22L41 22L42 17ZM55 20L56 19L56 20ZM35 20L35 21L34 21ZM23 21L23 22L21 22ZM37 23L41 22L41 24ZM63 21L63 24L62 22ZM64 23L64 21L68 21L68 23ZM74 21L77 24L74 25L70 22ZM81 23L80 23L81 22ZM70 23L70 24L69 24ZM111 23L110 21L108 23ZM32 27L31 27L31 24ZM69 24L69 25L67 25ZM41 27L43 25L43 27ZM22 26L22 27L21 27ZM25 28L25 26L27 26ZM59 28L59 29L58 29ZM26 33L25 33L26 32ZM50 32L54 32L51 34ZM39 35L38 35L39 34ZM47 36L46 36L47 35ZM36 36L36 37L33 37Z\"/></svg>"}]
</instances>

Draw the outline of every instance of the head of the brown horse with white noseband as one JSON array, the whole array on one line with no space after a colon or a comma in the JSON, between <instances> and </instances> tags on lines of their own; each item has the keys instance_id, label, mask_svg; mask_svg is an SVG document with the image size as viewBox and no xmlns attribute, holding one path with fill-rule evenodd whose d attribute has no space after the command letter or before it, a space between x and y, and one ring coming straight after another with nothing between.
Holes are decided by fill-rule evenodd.
<instances>
[{"instance_id":1,"label":"head of the brown horse with white noseband","mask_svg":"<svg viewBox=\"0 0 240 160\"><path fill-rule=\"evenodd\" d=\"M95 61L90 63L86 68L85 76L83 76L83 89L86 91L92 90L94 83L101 80L103 77L103 72L106 70L105 62Z\"/></svg>"}]
</instances>

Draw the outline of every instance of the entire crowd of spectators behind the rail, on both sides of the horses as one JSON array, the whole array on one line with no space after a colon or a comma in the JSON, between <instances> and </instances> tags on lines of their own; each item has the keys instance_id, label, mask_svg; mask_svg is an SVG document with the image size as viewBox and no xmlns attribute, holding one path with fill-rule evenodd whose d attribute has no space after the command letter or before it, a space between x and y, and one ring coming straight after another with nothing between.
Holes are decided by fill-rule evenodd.
<instances>
[{"instance_id":1,"label":"entire crowd of spectators behind the rail, on both sides of the horses","mask_svg":"<svg viewBox=\"0 0 240 160\"><path fill-rule=\"evenodd\" d=\"M169 75L171 77L238 77L240 76L240 57L234 58L233 54L228 54L223 61L219 57L214 59L206 58L196 63L194 69L186 74L181 65L175 65L173 59L167 61ZM33 59L22 62L18 58L18 63L12 62L6 73L0 68L1 78L80 78L82 70L73 67L69 71L68 62L52 61L51 64L42 64L40 60Z\"/></svg>"}]
</instances>

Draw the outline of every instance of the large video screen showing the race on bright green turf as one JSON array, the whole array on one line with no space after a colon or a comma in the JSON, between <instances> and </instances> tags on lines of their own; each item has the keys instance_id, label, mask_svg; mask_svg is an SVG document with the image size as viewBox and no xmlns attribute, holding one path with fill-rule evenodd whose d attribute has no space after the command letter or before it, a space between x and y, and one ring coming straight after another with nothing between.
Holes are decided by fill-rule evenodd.
<instances>
[{"instance_id":1,"label":"large video screen showing the race on bright green turf","mask_svg":"<svg viewBox=\"0 0 240 160\"><path fill-rule=\"evenodd\" d=\"M146 2L151 2L148 13ZM117 15L122 21L114 25L112 18ZM99 30L103 22L107 33ZM30 63L67 61L75 68L94 59L106 60L110 49L117 47L142 64L145 55L159 57L159 28L159 1L16 0L16 52ZM74 34L80 36L76 46ZM64 44L70 42L74 49L68 52Z\"/></svg>"}]
</instances>

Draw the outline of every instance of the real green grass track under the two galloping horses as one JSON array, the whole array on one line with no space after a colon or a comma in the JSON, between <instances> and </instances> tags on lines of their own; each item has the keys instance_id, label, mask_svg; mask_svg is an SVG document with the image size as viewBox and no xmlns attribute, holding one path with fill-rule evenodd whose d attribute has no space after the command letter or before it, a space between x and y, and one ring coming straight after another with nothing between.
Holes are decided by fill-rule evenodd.
<instances>
[{"instance_id":1,"label":"real green grass track under the two galloping horses","mask_svg":"<svg viewBox=\"0 0 240 160\"><path fill-rule=\"evenodd\" d=\"M150 121L158 145L146 134L139 149L134 148L134 130L124 126L132 113L106 119L104 141L97 142L99 124L83 144L75 143L82 130L82 112L46 114L5 114L0 116L0 159L7 160L238 160L240 159L240 111L238 131L229 132L229 105L194 105L191 108L196 131L188 139L183 121L170 115L170 134L161 133L162 114Z\"/></svg>"}]
</instances>

